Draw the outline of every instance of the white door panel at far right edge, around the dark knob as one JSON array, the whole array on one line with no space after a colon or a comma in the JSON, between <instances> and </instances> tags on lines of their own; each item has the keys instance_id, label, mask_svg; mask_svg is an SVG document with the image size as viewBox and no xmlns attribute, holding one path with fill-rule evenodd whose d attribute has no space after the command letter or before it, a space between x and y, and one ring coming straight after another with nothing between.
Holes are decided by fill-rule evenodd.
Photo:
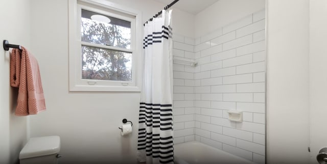
<instances>
[{"instance_id":1,"label":"white door panel at far right edge, around the dark knob","mask_svg":"<svg viewBox=\"0 0 327 164\"><path fill-rule=\"evenodd\" d=\"M310 163L317 163L316 155L327 146L327 133L321 130L327 115L326 9L327 1L310 1Z\"/></svg>"}]
</instances>

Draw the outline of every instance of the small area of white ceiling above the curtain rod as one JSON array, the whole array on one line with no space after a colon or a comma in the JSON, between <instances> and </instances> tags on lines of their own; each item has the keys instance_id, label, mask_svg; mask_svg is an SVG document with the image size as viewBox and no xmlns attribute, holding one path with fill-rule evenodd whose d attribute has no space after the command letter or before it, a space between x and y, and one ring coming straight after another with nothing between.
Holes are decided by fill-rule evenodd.
<instances>
[{"instance_id":1,"label":"small area of white ceiling above the curtain rod","mask_svg":"<svg viewBox=\"0 0 327 164\"><path fill-rule=\"evenodd\" d=\"M169 5L174 0L154 0L154 1ZM216 3L217 1L219 0L179 0L173 7L196 15L202 10L204 10L205 8Z\"/></svg>"}]
</instances>

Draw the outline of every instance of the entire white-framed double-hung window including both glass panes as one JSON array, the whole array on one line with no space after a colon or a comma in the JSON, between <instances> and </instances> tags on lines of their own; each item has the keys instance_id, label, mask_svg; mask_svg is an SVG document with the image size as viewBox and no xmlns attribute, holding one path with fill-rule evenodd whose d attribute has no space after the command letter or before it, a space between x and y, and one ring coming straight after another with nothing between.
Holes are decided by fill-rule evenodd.
<instances>
[{"instance_id":1,"label":"entire white-framed double-hung window including both glass panes","mask_svg":"<svg viewBox=\"0 0 327 164\"><path fill-rule=\"evenodd\" d=\"M69 90L139 91L141 14L104 3L69 1Z\"/></svg>"}]
</instances>

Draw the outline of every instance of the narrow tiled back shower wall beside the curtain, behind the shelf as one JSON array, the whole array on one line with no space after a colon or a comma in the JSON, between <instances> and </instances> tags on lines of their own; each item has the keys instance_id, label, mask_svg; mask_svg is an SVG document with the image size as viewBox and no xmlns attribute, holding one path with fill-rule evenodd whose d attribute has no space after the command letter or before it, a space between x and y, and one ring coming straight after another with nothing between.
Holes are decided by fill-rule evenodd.
<instances>
[{"instance_id":1,"label":"narrow tiled back shower wall beside the curtain, behind the shelf","mask_svg":"<svg viewBox=\"0 0 327 164\"><path fill-rule=\"evenodd\" d=\"M180 60L195 59L196 40L178 34L173 35L174 58ZM201 45L202 46L202 45ZM201 48L201 46L198 46ZM210 44L203 44L207 48ZM174 144L195 140L195 67L174 64L173 82L173 122L174 122ZM202 76L199 74L198 76Z\"/></svg>"}]
</instances>

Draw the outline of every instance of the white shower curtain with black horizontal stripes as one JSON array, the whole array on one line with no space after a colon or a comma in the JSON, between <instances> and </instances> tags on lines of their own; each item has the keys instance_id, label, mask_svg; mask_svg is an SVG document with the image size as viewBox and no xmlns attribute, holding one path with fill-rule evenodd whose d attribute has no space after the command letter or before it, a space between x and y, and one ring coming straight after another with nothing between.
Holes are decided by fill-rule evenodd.
<instances>
[{"instance_id":1,"label":"white shower curtain with black horizontal stripes","mask_svg":"<svg viewBox=\"0 0 327 164\"><path fill-rule=\"evenodd\" d=\"M147 164L174 163L171 12L162 10L162 17L144 26L137 157Z\"/></svg>"}]
</instances>

